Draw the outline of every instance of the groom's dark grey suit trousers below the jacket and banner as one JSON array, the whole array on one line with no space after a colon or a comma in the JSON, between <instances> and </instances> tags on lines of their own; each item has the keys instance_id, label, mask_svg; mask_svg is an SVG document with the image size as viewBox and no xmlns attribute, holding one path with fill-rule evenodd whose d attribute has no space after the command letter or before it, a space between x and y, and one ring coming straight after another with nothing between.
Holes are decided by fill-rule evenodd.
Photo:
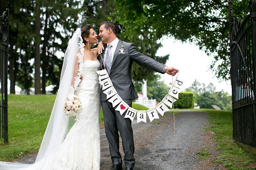
<instances>
[{"instance_id":1,"label":"groom's dark grey suit trousers below the jacket and banner","mask_svg":"<svg viewBox=\"0 0 256 170\"><path fill-rule=\"evenodd\" d=\"M131 107L132 99L123 99ZM122 158L119 152L119 134L122 138L122 147L125 153L125 167L134 167L134 139L131 127L131 119L124 118L125 113L120 115L119 111L115 111L112 104L108 101L101 102L105 133L109 143L109 150L113 164L122 164Z\"/></svg>"}]
</instances>

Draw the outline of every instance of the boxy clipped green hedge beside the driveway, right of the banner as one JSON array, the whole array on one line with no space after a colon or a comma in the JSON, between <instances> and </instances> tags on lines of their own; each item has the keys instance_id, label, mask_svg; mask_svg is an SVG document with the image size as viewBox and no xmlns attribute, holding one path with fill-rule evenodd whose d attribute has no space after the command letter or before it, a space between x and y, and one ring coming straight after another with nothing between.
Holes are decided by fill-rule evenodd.
<instances>
[{"instance_id":1,"label":"boxy clipped green hedge beside the driveway, right of the banner","mask_svg":"<svg viewBox=\"0 0 256 170\"><path fill-rule=\"evenodd\" d=\"M194 108L195 95L192 92L180 92L179 99L174 102L175 108Z\"/></svg>"}]
</instances>

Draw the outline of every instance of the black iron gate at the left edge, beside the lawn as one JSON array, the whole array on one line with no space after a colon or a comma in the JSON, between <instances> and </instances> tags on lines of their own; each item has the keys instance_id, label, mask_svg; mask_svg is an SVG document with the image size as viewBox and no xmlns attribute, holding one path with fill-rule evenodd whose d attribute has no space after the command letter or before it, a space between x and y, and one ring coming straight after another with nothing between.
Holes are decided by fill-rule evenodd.
<instances>
[{"instance_id":1,"label":"black iron gate at the left edge, beside the lawn","mask_svg":"<svg viewBox=\"0 0 256 170\"><path fill-rule=\"evenodd\" d=\"M0 16L0 138L8 143L8 110L7 110L7 68L8 68L8 44L9 44L9 10Z\"/></svg>"}]
</instances>

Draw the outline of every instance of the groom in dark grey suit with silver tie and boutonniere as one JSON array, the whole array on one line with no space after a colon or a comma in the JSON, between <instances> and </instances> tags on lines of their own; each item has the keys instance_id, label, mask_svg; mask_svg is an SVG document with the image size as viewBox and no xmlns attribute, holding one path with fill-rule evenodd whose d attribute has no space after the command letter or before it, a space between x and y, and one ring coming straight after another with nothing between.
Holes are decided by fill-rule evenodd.
<instances>
[{"instance_id":1,"label":"groom in dark grey suit with silver tie and boutonniere","mask_svg":"<svg viewBox=\"0 0 256 170\"><path fill-rule=\"evenodd\" d=\"M137 92L131 81L131 65L135 61L139 65L157 71L175 75L178 70L173 67L166 67L160 62L141 54L133 43L123 42L116 37L117 27L111 21L101 23L99 37L107 46L102 53L103 63L108 71L109 77L119 96L131 107L132 99L137 99ZM98 56L103 68L102 59ZM104 115L105 133L109 143L109 150L113 166L111 170L122 170L122 158L119 153L119 134L122 138L122 146L125 153L124 162L126 170L133 170L134 139L131 120L124 118L125 113L120 115L115 111L112 104L107 101L106 95L101 91L100 101Z\"/></svg>"}]
</instances>

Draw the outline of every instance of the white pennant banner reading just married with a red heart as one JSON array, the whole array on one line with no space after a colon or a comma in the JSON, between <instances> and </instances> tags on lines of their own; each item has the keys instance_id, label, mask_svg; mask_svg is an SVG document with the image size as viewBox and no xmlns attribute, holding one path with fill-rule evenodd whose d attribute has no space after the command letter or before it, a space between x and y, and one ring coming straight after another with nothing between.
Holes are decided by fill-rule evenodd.
<instances>
[{"instance_id":1,"label":"white pennant banner reading just married with a red heart","mask_svg":"<svg viewBox=\"0 0 256 170\"><path fill-rule=\"evenodd\" d=\"M181 92L180 87L183 85L183 82L177 80L177 77L175 81L173 82L172 87L170 88L168 94L162 99L161 102L159 102L154 108L148 109L147 111L138 111L129 105L127 105L123 99L117 94L116 89L113 86L113 83L111 82L111 79L109 78L108 71L106 69L96 71L96 73L99 75L99 84L102 85L102 91L104 94L107 95L108 102L111 102L113 105L113 108L116 107L116 111L119 111L119 113L122 115L125 113L125 118L131 119L131 121L134 120L136 114L137 114L137 123L139 122L147 122L147 115L152 122L154 119L159 119L158 113L163 116L163 114L166 111L169 111L169 106L172 108L173 102L176 102L179 93ZM177 87L174 86L175 83L177 83ZM167 105L167 106L166 106ZM158 113L157 113L158 112Z\"/></svg>"}]
</instances>

